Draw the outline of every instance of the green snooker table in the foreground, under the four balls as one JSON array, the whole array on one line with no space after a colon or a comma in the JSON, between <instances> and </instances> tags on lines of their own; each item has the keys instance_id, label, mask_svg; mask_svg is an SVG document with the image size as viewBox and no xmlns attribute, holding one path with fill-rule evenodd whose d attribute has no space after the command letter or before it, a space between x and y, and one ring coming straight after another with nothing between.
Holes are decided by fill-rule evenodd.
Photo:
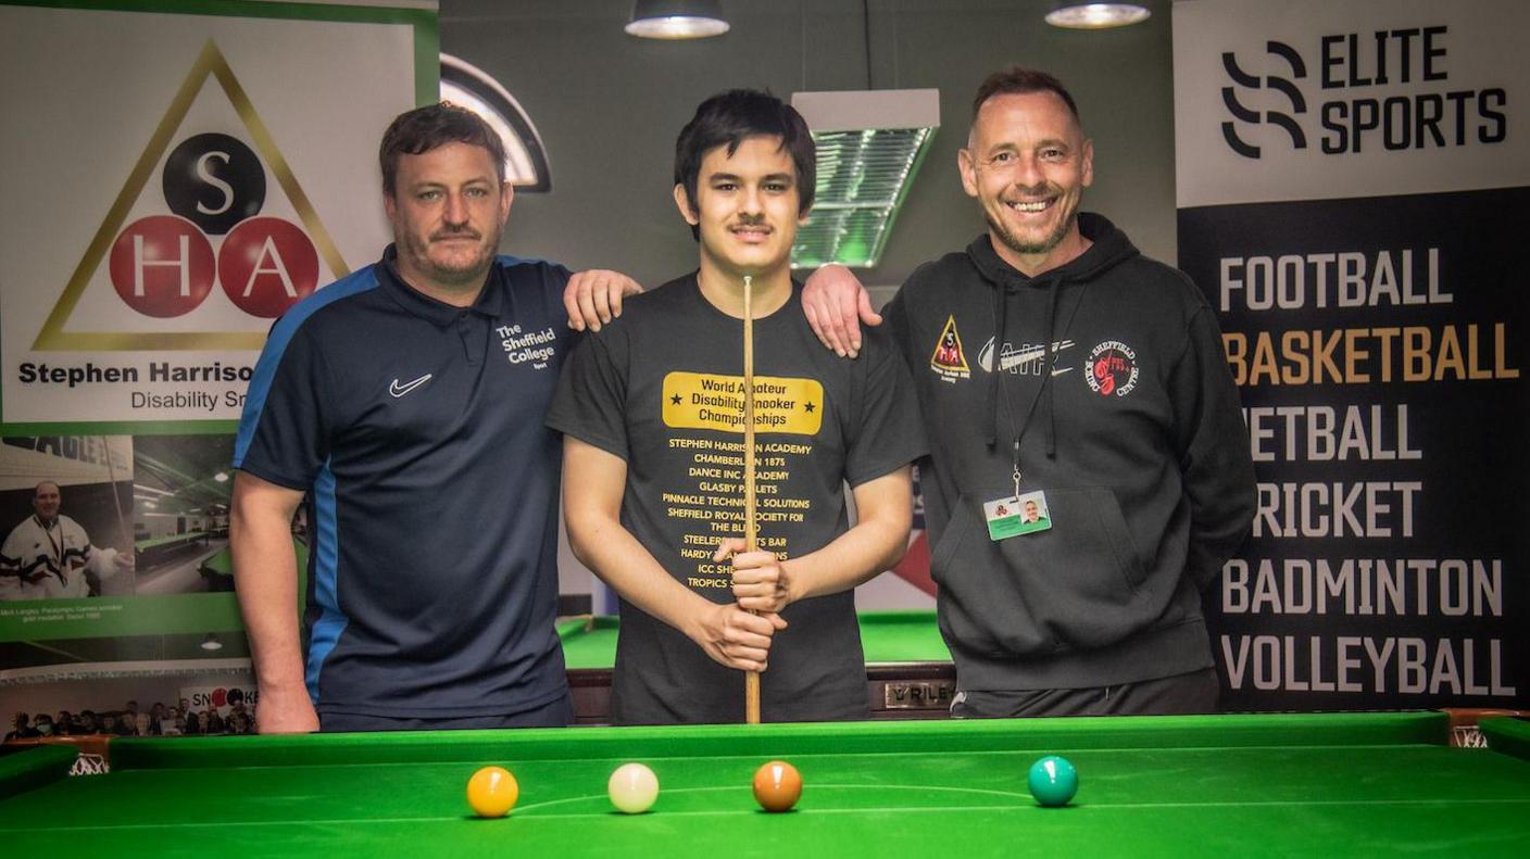
<instances>
[{"instance_id":1,"label":"green snooker table in the foreground, under the four balls","mask_svg":"<svg viewBox=\"0 0 1530 859\"><path fill-rule=\"evenodd\" d=\"M1502 723L1502 724L1498 724ZM8 856L1518 856L1530 848L1527 724L1446 744L1444 714L1274 714L588 728L115 740L0 758ZM1079 769L1039 807L1025 772ZM756 767L802 772L796 810L754 806ZM646 815L610 809L624 761L658 773ZM520 781L468 813L480 766Z\"/></svg>"}]
</instances>

